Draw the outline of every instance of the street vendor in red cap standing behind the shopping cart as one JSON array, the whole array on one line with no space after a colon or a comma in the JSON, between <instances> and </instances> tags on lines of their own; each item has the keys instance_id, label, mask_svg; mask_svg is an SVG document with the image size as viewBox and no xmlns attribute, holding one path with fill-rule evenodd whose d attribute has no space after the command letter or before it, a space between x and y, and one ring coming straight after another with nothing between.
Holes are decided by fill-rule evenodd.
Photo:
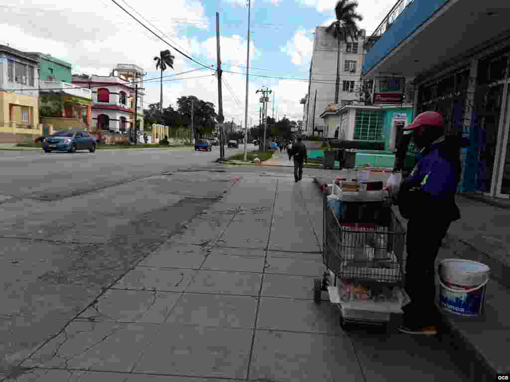
<instances>
[{"instance_id":1,"label":"street vendor in red cap standing behind the shopping cart","mask_svg":"<svg viewBox=\"0 0 510 382\"><path fill-rule=\"evenodd\" d=\"M411 303L403 307L399 331L435 335L440 323L435 305L435 260L451 222L461 217L455 192L461 177L462 143L456 137L445 137L443 117L437 112L418 115L404 130L412 134L421 158L401 184L389 186L401 215L409 220L405 291Z\"/></svg>"}]
</instances>

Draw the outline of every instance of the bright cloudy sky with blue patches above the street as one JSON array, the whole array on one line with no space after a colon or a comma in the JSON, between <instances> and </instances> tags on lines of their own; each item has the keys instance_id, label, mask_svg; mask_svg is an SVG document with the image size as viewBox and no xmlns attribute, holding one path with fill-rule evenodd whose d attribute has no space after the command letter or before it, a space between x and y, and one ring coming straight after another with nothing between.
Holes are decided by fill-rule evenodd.
<instances>
[{"instance_id":1,"label":"bright cloudy sky with blue patches above the street","mask_svg":"<svg viewBox=\"0 0 510 382\"><path fill-rule=\"evenodd\" d=\"M216 64L215 13L220 14L223 111L227 121L244 124L247 0L116 0L148 28L174 47L206 66ZM361 27L372 33L396 0L360 0ZM252 0L249 80L249 115L258 122L255 93L268 86L275 94L279 117L302 119L299 99L307 81L274 77L308 78L313 31L334 18L334 0ZM108 75L117 63L137 64L146 71L144 103L158 102L159 76L152 60L169 48L175 56L173 70L163 82L163 103L182 95L195 95L216 107L217 81L152 35L112 0L7 0L0 4L0 44L40 51L69 61L73 73ZM234 72L228 73L226 71ZM244 75L243 75L244 74ZM254 75L260 75L256 77ZM195 77L195 78L191 78ZM197 78L198 77L198 78ZM183 79L187 78L187 79ZM272 108L272 105L269 106ZM272 114L272 110L268 115ZM249 122L248 122L249 123Z\"/></svg>"}]
</instances>

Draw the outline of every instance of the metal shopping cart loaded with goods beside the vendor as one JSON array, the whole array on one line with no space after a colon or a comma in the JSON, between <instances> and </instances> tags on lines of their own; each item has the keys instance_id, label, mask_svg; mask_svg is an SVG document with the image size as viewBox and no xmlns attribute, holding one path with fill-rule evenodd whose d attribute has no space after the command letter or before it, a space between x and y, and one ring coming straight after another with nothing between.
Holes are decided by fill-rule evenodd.
<instances>
[{"instance_id":1,"label":"metal shopping cart loaded with goods beside the vendor","mask_svg":"<svg viewBox=\"0 0 510 382\"><path fill-rule=\"evenodd\" d=\"M362 199L359 196L349 199L347 194L344 192L342 215L338 217L328 206L324 193L322 259L326 271L322 279L314 280L315 301L319 303L322 292L328 291L330 301L336 302L340 308L340 324L344 330L348 323L387 324L391 312L399 311L399 305L408 298L401 289L405 230L389 199ZM347 301L345 298L342 301L344 290L348 290L347 293L356 290L353 285L364 285L368 288L365 290L375 294L370 298L368 294L364 295L361 299L352 299L348 295ZM394 293L388 299L374 297L379 291L388 290ZM338 295L331 295L336 293ZM397 302L390 303L390 299Z\"/></svg>"}]
</instances>

